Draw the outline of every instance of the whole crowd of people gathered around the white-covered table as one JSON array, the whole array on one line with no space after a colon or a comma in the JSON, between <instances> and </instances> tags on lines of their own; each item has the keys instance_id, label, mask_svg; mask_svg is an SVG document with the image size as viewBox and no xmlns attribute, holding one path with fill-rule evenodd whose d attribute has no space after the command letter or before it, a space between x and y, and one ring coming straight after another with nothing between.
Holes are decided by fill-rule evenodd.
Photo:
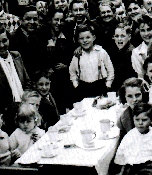
<instances>
[{"instance_id":1,"label":"whole crowd of people gathered around the white-covered table","mask_svg":"<svg viewBox=\"0 0 152 175\"><path fill-rule=\"evenodd\" d=\"M0 1L0 166L73 103L114 91L128 107L110 167L152 174L151 84L152 0Z\"/></svg>"}]
</instances>

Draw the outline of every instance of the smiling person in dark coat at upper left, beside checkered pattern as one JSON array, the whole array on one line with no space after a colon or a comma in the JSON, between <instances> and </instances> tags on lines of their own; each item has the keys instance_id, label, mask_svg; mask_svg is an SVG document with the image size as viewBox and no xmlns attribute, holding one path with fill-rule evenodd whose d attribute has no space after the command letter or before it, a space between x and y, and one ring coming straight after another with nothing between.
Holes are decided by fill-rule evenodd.
<instances>
[{"instance_id":1,"label":"smiling person in dark coat at upper left, beside checkered pattern","mask_svg":"<svg viewBox=\"0 0 152 175\"><path fill-rule=\"evenodd\" d=\"M42 68L45 63L45 46L47 44L44 42L43 36L38 31L36 8L28 7L23 13L21 26L10 39L10 49L18 50L21 53L29 76Z\"/></svg>"}]
</instances>

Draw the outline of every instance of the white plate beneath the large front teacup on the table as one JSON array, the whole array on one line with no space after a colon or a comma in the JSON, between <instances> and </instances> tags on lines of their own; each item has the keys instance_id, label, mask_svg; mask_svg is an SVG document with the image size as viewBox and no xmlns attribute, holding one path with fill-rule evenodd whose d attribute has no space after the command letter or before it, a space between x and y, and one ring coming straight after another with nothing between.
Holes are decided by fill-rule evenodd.
<instances>
[{"instance_id":1,"label":"white plate beneath the large front teacup on the table","mask_svg":"<svg viewBox=\"0 0 152 175\"><path fill-rule=\"evenodd\" d=\"M108 140L98 140L98 139L94 139L94 147L89 147L89 148L86 148L84 147L83 143L82 143L82 140L79 139L76 141L76 145L82 149L86 149L86 150L96 150L96 149L101 149L103 147L106 146Z\"/></svg>"}]
</instances>

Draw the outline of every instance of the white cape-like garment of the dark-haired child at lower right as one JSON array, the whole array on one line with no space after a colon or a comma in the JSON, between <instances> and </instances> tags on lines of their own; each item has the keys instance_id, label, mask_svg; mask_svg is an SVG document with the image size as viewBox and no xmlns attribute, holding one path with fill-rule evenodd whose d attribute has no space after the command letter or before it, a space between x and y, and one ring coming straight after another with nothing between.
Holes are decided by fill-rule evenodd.
<instances>
[{"instance_id":1,"label":"white cape-like garment of the dark-haired child at lower right","mask_svg":"<svg viewBox=\"0 0 152 175\"><path fill-rule=\"evenodd\" d=\"M133 128L121 141L114 162L133 165L149 160L152 161L152 128L147 134L141 134L137 128Z\"/></svg>"}]
</instances>

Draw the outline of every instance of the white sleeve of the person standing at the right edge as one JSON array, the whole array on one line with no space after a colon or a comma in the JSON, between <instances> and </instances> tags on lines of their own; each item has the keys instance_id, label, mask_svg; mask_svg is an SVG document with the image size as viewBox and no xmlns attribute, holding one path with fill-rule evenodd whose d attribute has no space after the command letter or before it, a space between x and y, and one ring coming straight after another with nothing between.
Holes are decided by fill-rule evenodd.
<instances>
[{"instance_id":1,"label":"white sleeve of the person standing at the right edge","mask_svg":"<svg viewBox=\"0 0 152 175\"><path fill-rule=\"evenodd\" d=\"M139 55L139 53L137 53L136 49L133 49L133 51L132 51L131 61L132 61L133 69L138 74L138 78L143 78L143 76L144 76L144 70L143 70L144 61L142 59L142 56Z\"/></svg>"}]
</instances>

